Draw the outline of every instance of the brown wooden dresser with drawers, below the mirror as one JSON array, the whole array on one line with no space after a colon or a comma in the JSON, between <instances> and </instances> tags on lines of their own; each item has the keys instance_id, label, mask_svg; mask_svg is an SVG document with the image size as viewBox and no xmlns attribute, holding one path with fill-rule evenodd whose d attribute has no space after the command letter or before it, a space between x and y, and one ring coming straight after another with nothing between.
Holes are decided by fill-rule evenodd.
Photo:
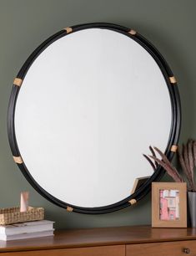
<instances>
[{"instance_id":1,"label":"brown wooden dresser with drawers, below the mirror","mask_svg":"<svg viewBox=\"0 0 196 256\"><path fill-rule=\"evenodd\" d=\"M0 256L196 256L196 228L149 226L57 231L54 237L0 241Z\"/></svg>"}]
</instances>

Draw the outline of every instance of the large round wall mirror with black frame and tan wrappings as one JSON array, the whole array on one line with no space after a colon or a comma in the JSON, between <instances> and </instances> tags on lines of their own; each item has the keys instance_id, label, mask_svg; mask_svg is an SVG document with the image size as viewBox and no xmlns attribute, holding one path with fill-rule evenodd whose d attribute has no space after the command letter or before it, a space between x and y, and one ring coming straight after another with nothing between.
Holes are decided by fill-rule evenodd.
<instances>
[{"instance_id":1,"label":"large round wall mirror with black frame and tan wrappings","mask_svg":"<svg viewBox=\"0 0 196 256\"><path fill-rule=\"evenodd\" d=\"M143 157L178 142L176 81L163 57L132 29L65 28L28 58L14 80L8 138L38 192L68 210L112 212L137 202L155 173ZM143 185L137 189L140 177Z\"/></svg>"}]
</instances>

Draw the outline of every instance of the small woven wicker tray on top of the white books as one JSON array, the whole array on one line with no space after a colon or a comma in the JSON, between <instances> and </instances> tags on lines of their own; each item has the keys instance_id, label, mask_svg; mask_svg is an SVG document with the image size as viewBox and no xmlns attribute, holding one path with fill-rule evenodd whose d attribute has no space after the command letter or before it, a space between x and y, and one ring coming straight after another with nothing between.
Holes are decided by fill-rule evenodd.
<instances>
[{"instance_id":1,"label":"small woven wicker tray on top of the white books","mask_svg":"<svg viewBox=\"0 0 196 256\"><path fill-rule=\"evenodd\" d=\"M43 218L43 207L28 207L27 212L20 212L20 207L0 209L0 225L31 222Z\"/></svg>"}]
</instances>

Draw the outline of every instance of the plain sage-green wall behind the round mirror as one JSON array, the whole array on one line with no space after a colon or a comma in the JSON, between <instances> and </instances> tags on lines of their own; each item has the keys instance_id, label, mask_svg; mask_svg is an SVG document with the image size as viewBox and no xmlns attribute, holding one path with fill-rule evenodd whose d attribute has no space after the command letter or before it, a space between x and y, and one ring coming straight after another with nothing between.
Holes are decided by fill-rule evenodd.
<instances>
[{"instance_id":1,"label":"plain sage-green wall behind the round mirror","mask_svg":"<svg viewBox=\"0 0 196 256\"><path fill-rule=\"evenodd\" d=\"M142 33L167 59L182 98L181 141L196 138L195 9L194 0L0 0L0 207L17 206L28 190L30 204L44 207L56 228L151 223L150 195L134 207L94 216L66 212L35 192L8 146L8 99L18 70L45 38L73 24L117 23Z\"/></svg>"}]
</instances>

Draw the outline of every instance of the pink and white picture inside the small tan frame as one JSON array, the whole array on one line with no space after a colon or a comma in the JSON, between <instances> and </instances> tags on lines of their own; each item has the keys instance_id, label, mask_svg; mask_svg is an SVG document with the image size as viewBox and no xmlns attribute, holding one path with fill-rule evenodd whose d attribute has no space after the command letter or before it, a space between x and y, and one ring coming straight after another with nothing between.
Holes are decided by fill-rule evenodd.
<instances>
[{"instance_id":1,"label":"pink and white picture inside the small tan frame","mask_svg":"<svg viewBox=\"0 0 196 256\"><path fill-rule=\"evenodd\" d=\"M179 191L160 190L160 219L177 220L179 219Z\"/></svg>"}]
</instances>

